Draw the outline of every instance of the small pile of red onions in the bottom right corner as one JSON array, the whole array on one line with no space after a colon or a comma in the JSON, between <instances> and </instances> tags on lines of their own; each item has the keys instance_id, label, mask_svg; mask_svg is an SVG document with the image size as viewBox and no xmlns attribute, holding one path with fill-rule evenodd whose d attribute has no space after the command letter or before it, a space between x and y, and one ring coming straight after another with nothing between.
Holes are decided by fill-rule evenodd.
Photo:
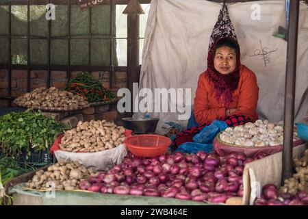
<instances>
[{"instance_id":1,"label":"small pile of red onions in the bottom right corner","mask_svg":"<svg viewBox=\"0 0 308 219\"><path fill-rule=\"evenodd\" d=\"M262 188L261 198L256 198L254 205L308 205L308 193L305 190L296 195L279 192L276 185L267 184Z\"/></svg>"}]
</instances>

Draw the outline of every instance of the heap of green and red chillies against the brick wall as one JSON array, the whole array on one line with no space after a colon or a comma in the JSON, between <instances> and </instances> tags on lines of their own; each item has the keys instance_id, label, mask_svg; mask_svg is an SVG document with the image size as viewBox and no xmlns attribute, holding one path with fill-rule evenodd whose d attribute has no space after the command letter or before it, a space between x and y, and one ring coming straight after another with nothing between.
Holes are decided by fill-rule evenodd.
<instances>
[{"instance_id":1,"label":"heap of green and red chillies against the brick wall","mask_svg":"<svg viewBox=\"0 0 308 219\"><path fill-rule=\"evenodd\" d=\"M71 79L65 90L84 96L89 103L110 101L116 97L114 93L104 88L101 82L89 73L81 73Z\"/></svg>"}]
</instances>

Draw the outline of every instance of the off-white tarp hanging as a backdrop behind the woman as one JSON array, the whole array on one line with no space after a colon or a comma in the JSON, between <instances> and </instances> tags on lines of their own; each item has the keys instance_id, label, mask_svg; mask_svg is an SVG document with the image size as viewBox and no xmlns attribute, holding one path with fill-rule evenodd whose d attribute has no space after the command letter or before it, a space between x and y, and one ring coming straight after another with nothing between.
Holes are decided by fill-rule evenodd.
<instances>
[{"instance_id":1,"label":"off-white tarp hanging as a backdrop behind the woman","mask_svg":"<svg viewBox=\"0 0 308 219\"><path fill-rule=\"evenodd\" d=\"M139 89L183 88L185 91L191 88L191 99L186 99L185 105L193 105L198 76L207 67L209 37L220 8L220 3L205 0L152 0ZM233 3L228 4L228 10L241 47L241 62L257 75L259 118L277 123L283 120L287 42L272 34L279 25L285 25L285 1ZM308 113L308 8L303 3L300 4L297 60L296 121ZM187 120L178 119L179 112L188 111L189 107L184 108L177 101L176 98L154 101L153 105L169 105L168 112L149 113L160 118L157 131L164 122L187 124ZM177 112L170 112L170 105L177 107ZM139 112L134 116L144 114Z\"/></svg>"}]
</instances>

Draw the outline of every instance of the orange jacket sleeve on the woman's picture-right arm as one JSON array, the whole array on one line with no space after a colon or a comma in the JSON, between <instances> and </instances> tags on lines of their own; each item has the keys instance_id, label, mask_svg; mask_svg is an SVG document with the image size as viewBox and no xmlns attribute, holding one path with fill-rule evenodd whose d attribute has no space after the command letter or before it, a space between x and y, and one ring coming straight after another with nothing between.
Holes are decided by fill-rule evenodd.
<instances>
[{"instance_id":1,"label":"orange jacket sleeve on the woman's picture-right arm","mask_svg":"<svg viewBox=\"0 0 308 219\"><path fill-rule=\"evenodd\" d=\"M238 99L238 110L233 114L245 115L253 121L257 120L257 103L259 99L259 87L257 77L250 69L243 66L242 81L240 81L240 96Z\"/></svg>"}]
</instances>

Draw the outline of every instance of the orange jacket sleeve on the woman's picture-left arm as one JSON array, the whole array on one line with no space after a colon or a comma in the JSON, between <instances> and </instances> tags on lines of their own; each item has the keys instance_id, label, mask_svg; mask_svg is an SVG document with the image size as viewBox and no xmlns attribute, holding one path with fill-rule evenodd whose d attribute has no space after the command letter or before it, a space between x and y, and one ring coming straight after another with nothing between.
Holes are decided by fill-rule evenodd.
<instances>
[{"instance_id":1,"label":"orange jacket sleeve on the woman's picture-left arm","mask_svg":"<svg viewBox=\"0 0 308 219\"><path fill-rule=\"evenodd\" d=\"M226 109L224 107L209 108L208 92L209 86L205 79L205 74L201 74L198 79L198 86L196 88L196 98L194 99L194 116L199 125L211 123L213 120L223 120Z\"/></svg>"}]
</instances>

